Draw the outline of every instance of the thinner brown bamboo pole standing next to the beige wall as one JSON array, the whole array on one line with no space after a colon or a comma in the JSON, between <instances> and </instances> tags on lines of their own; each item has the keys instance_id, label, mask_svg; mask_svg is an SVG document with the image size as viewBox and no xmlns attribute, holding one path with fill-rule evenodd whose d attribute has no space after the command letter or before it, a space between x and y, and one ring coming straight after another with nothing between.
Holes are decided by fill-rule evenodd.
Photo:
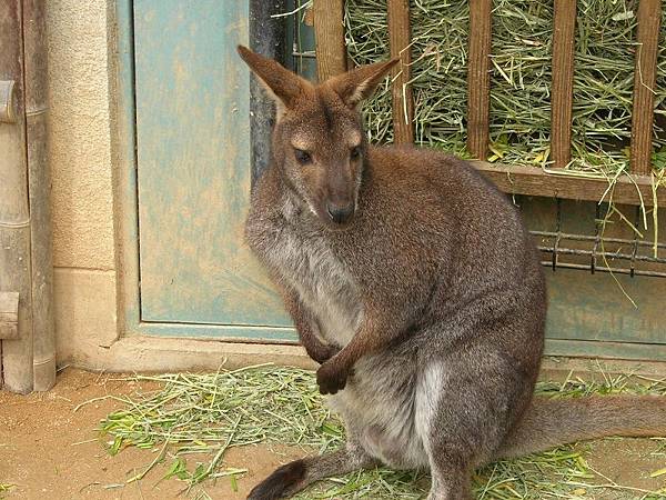
<instances>
[{"instance_id":1,"label":"thinner brown bamboo pole standing next to the beige wall","mask_svg":"<svg viewBox=\"0 0 666 500\"><path fill-rule=\"evenodd\" d=\"M51 176L47 154L47 30L44 0L23 0L26 142L30 192L34 390L56 383Z\"/></svg>"}]
</instances>

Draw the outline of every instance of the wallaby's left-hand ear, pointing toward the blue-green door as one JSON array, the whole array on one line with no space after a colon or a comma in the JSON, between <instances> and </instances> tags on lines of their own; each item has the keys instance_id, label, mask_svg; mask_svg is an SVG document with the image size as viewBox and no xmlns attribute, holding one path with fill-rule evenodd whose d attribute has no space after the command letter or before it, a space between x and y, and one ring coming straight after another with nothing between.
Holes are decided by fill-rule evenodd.
<instances>
[{"instance_id":1,"label":"wallaby's left-hand ear, pointing toward the blue-green door","mask_svg":"<svg viewBox=\"0 0 666 500\"><path fill-rule=\"evenodd\" d=\"M297 74L292 73L278 61L264 58L243 46L238 47L239 54L259 77L264 87L275 99L279 112L281 108L290 108L307 84Z\"/></svg>"}]
</instances>

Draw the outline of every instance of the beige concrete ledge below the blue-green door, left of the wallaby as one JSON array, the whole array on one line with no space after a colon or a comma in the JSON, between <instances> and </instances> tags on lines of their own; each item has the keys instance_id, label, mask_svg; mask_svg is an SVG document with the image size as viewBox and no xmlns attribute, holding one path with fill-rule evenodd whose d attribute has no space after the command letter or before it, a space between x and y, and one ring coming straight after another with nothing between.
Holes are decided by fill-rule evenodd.
<instances>
[{"instance_id":1,"label":"beige concrete ledge below the blue-green door, left of the wallaby","mask_svg":"<svg viewBox=\"0 0 666 500\"><path fill-rule=\"evenodd\" d=\"M78 362L81 361L81 362ZM113 342L107 353L97 357L98 366L73 359L73 366L95 371L195 371L273 362L281 366L315 369L300 346L232 343L216 340L131 336Z\"/></svg>"}]
</instances>

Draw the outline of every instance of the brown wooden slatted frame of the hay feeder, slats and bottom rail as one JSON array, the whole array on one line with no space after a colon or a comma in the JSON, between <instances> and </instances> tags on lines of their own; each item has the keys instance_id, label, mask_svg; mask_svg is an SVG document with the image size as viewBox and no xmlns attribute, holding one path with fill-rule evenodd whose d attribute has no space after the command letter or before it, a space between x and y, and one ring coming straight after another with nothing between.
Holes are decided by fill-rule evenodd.
<instances>
[{"instance_id":1,"label":"brown wooden slatted frame of the hay feeder, slats and bottom rail","mask_svg":"<svg viewBox=\"0 0 666 500\"><path fill-rule=\"evenodd\" d=\"M323 72L320 72L320 78L327 78L346 69L339 63L339 61L346 61L342 20L343 1L314 0L317 68L324 69ZM655 86L660 8L662 0L640 0L637 34L639 44L636 51L632 124L632 173L615 180L613 187L615 202L654 204L654 179L650 167L654 114L652 89ZM403 109L406 109L408 117L413 117L414 104L407 83L411 56L406 53L408 49L405 49L410 44L408 2L391 0L389 9L391 53L393 57L400 56L403 62L400 67L400 70L403 71L402 77L396 78L393 88L395 142L412 142L413 124L404 123L405 113L403 112ZM556 172L571 160L575 22L576 1L555 0L553 99L551 103L553 130L551 150L554 168L545 170L538 167L475 162L483 174L506 192L599 201L608 190L609 181L603 178ZM492 0L471 2L467 148L476 158L486 158L488 147L491 29ZM412 102L404 102L405 98ZM413 120L413 118L411 119ZM659 187L655 191L657 206L666 207L666 187Z\"/></svg>"}]
</instances>

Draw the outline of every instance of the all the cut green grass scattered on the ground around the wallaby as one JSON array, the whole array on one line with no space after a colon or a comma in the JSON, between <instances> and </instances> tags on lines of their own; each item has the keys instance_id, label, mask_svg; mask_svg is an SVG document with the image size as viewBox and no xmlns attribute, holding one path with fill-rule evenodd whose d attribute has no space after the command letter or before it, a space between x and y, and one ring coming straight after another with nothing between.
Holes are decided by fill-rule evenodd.
<instances>
[{"instance_id":1,"label":"all the cut green grass scattered on the ground around the wallaby","mask_svg":"<svg viewBox=\"0 0 666 500\"><path fill-rule=\"evenodd\" d=\"M117 398L125 408L109 414L100 426L110 438L109 452L118 453L131 446L153 450L155 458L145 472L158 462L167 462L165 478L176 477L188 486L225 478L233 487L243 470L224 467L224 453L232 447L268 442L323 452L343 441L343 428L325 409L311 371L259 366L220 369L210 374L139 376L132 380L157 381L163 388ZM537 393L553 398L666 394L666 382L608 374L599 381L569 377L564 382L541 382ZM614 483L593 470L585 454L584 447L564 446L497 462L476 472L475 493L480 499L493 500L598 498L609 492L618 492L617 498L666 498L666 488L650 492ZM666 444L655 454L666 457ZM145 472L129 481L141 479ZM296 498L418 499L428 488L425 473L380 468L321 482Z\"/></svg>"}]
</instances>

